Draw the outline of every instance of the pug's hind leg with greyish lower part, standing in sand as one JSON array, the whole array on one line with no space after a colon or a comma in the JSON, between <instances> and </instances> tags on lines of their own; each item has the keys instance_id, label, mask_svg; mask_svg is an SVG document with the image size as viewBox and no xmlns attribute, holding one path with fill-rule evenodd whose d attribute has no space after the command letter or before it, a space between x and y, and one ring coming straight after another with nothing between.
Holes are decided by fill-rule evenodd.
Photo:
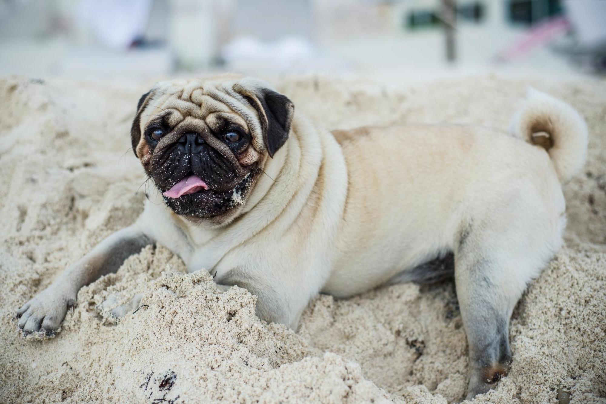
<instances>
[{"instance_id":1,"label":"pug's hind leg with greyish lower part, standing in sand","mask_svg":"<svg viewBox=\"0 0 606 404\"><path fill-rule=\"evenodd\" d=\"M454 281L469 347L467 399L507 374L511 313L559 247L559 234L514 222L467 229L455 250Z\"/></svg>"}]
</instances>

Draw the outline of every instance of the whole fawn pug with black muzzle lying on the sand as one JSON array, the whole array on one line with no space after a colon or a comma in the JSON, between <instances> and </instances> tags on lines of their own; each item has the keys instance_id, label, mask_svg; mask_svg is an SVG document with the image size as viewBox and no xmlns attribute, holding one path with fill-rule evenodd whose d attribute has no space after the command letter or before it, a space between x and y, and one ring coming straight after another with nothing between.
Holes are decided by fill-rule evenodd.
<instances>
[{"instance_id":1,"label":"whole fawn pug with black muzzle lying on the sand","mask_svg":"<svg viewBox=\"0 0 606 404\"><path fill-rule=\"evenodd\" d=\"M562 184L587 151L582 117L536 90L509 134L329 132L268 83L235 75L158 83L139 100L131 138L157 192L132 226L18 310L24 333L55 333L82 286L153 243L221 288L247 288L259 318L293 329L318 293L454 276L467 398L507 374L511 312L561 247Z\"/></svg>"}]
</instances>

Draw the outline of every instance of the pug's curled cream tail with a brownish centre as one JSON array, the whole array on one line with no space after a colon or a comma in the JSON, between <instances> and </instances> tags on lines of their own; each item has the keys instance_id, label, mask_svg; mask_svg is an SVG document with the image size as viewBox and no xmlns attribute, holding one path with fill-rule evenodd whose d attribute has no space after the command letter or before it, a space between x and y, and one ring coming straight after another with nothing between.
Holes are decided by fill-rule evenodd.
<instances>
[{"instance_id":1,"label":"pug's curled cream tail with a brownish centre","mask_svg":"<svg viewBox=\"0 0 606 404\"><path fill-rule=\"evenodd\" d=\"M528 88L522 108L511 121L510 132L547 150L561 183L570 180L585 164L585 120L567 103L534 88Z\"/></svg>"}]
</instances>

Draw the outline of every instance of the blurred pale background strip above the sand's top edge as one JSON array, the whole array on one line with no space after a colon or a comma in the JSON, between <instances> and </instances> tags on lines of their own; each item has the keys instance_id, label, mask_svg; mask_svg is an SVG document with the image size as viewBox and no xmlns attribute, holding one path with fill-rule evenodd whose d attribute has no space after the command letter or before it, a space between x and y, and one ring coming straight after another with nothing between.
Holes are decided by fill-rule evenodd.
<instances>
[{"instance_id":1,"label":"blurred pale background strip above the sand's top edge","mask_svg":"<svg viewBox=\"0 0 606 404\"><path fill-rule=\"evenodd\" d=\"M606 71L606 0L0 0L0 74Z\"/></svg>"}]
</instances>

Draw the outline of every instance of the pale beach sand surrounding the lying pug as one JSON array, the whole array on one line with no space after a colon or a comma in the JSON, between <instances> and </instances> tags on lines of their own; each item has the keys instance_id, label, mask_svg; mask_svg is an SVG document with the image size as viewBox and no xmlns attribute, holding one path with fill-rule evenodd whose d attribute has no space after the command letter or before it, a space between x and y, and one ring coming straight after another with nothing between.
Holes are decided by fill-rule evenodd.
<instances>
[{"instance_id":1,"label":"pale beach sand surrounding the lying pug","mask_svg":"<svg viewBox=\"0 0 606 404\"><path fill-rule=\"evenodd\" d=\"M566 245L511 321L513 368L475 402L606 403L606 82L498 77L386 89L319 77L274 80L327 128L475 123L507 129L527 85L571 103L591 132L565 189ZM264 324L255 297L184 273L162 246L85 287L58 337L24 340L15 310L141 212L128 152L144 86L0 81L0 402L419 402L461 400L467 344L453 284L319 296L297 333ZM114 305L142 293L116 321Z\"/></svg>"}]
</instances>

